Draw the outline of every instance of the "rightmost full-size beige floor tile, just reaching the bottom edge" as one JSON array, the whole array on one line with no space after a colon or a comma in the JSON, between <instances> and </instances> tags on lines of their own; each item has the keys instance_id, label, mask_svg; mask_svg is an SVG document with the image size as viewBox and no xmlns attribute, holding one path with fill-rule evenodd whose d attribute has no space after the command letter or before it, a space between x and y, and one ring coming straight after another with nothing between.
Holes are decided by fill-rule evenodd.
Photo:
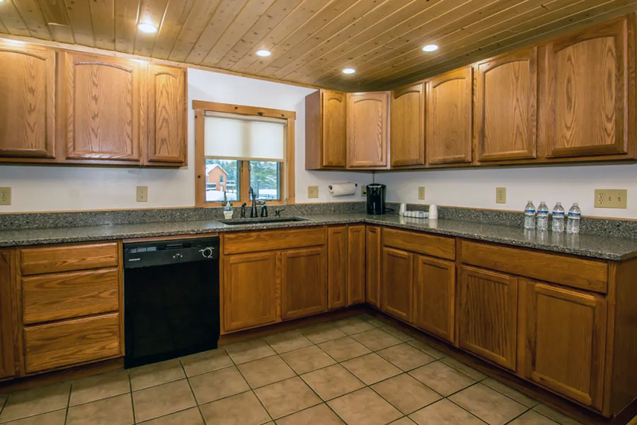
<instances>
[{"instance_id":1,"label":"rightmost full-size beige floor tile, just reaching the bottom edge","mask_svg":"<svg viewBox=\"0 0 637 425\"><path fill-rule=\"evenodd\" d=\"M482 384L472 385L449 399L490 425L506 424L527 410L522 404Z\"/></svg>"}]
</instances>

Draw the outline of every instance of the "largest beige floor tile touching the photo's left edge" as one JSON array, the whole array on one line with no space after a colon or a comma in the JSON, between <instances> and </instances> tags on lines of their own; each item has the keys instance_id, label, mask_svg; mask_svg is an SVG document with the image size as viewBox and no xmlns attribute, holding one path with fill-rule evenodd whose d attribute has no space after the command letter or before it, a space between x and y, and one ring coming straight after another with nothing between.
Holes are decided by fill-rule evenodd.
<instances>
[{"instance_id":1,"label":"largest beige floor tile touching the photo's left edge","mask_svg":"<svg viewBox=\"0 0 637 425\"><path fill-rule=\"evenodd\" d=\"M64 409L69 402L70 391L71 382L64 382L33 388L33 390L14 392L8 396L4 404L4 409L0 414L0 422Z\"/></svg>"}]
</instances>

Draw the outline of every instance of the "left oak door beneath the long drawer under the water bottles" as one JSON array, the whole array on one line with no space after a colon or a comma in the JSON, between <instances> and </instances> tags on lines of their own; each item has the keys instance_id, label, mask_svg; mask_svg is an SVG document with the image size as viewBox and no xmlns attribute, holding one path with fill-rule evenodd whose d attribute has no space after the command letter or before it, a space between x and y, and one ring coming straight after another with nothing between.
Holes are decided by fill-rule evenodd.
<instances>
[{"instance_id":1,"label":"left oak door beneath the long drawer under the water bottles","mask_svg":"<svg viewBox=\"0 0 637 425\"><path fill-rule=\"evenodd\" d=\"M459 296L460 346L515 371L517 279L462 267Z\"/></svg>"}]
</instances>

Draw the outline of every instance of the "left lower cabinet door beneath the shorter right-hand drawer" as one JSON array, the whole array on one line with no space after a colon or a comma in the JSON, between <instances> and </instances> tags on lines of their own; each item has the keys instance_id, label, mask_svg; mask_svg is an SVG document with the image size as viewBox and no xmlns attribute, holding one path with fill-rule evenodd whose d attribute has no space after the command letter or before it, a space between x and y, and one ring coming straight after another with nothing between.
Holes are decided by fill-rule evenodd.
<instances>
[{"instance_id":1,"label":"left lower cabinet door beneath the shorter right-hand drawer","mask_svg":"<svg viewBox=\"0 0 637 425\"><path fill-rule=\"evenodd\" d=\"M381 310L411 322L413 254L383 247Z\"/></svg>"}]
</instances>

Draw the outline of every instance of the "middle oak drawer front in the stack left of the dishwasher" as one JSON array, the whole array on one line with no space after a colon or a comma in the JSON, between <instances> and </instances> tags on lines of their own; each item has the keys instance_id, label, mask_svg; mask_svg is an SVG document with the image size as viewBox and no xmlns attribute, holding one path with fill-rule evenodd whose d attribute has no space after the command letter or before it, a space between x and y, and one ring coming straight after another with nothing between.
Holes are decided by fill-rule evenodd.
<instances>
[{"instance_id":1,"label":"middle oak drawer front in the stack left of the dishwasher","mask_svg":"<svg viewBox=\"0 0 637 425\"><path fill-rule=\"evenodd\" d=\"M25 324L119 310L117 268L30 276L22 280Z\"/></svg>"}]
</instances>

